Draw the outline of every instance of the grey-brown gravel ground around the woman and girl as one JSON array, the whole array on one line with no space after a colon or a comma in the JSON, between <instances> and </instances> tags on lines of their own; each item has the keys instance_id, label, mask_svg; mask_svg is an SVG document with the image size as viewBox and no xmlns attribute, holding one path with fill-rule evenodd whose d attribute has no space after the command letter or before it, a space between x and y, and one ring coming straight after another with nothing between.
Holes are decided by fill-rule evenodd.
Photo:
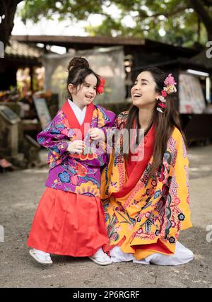
<instances>
[{"instance_id":1,"label":"grey-brown gravel ground around the woman and girl","mask_svg":"<svg viewBox=\"0 0 212 302\"><path fill-rule=\"evenodd\" d=\"M194 227L183 231L179 241L194 252L195 260L177 267L132 262L100 267L86 257L57 255L52 256L52 266L42 267L30 257L25 243L35 209L45 190L47 167L1 173L0 225L4 227L4 242L0 242L0 286L212 287L211 155L212 145L189 149ZM45 151L41 151L41 158L45 161ZM211 235L206 228L211 229Z\"/></svg>"}]
</instances>

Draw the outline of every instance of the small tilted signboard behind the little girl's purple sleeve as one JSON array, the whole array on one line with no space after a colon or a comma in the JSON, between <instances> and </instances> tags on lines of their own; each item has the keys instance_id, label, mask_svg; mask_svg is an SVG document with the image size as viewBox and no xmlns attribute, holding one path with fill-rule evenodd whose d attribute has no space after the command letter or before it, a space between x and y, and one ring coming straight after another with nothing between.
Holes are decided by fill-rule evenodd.
<instances>
[{"instance_id":1,"label":"small tilted signboard behind the little girl's purple sleeve","mask_svg":"<svg viewBox=\"0 0 212 302\"><path fill-rule=\"evenodd\" d=\"M47 124L49 124L49 122L51 122L52 120L47 108L46 100L45 98L36 98L35 96L33 96L33 101L35 103L35 108L41 123L41 127L42 129L45 129L47 127Z\"/></svg>"}]
</instances>

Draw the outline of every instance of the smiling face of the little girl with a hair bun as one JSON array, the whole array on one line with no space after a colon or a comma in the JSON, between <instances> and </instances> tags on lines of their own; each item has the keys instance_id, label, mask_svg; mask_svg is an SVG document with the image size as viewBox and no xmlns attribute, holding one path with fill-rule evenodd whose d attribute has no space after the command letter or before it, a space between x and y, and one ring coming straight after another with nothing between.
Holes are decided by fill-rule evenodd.
<instances>
[{"instance_id":1,"label":"smiling face of the little girl with a hair bun","mask_svg":"<svg viewBox=\"0 0 212 302\"><path fill-rule=\"evenodd\" d=\"M86 76L81 86L75 88L72 84L69 84L68 89L71 93L73 103L81 109L92 103L96 97L96 85L97 79L94 74Z\"/></svg>"}]
</instances>

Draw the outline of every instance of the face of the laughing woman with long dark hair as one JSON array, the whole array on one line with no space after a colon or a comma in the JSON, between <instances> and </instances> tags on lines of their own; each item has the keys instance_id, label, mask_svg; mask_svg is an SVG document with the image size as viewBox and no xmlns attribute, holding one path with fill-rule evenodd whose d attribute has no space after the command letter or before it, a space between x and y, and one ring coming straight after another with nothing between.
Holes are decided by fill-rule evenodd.
<instances>
[{"instance_id":1,"label":"face of the laughing woman with long dark hair","mask_svg":"<svg viewBox=\"0 0 212 302\"><path fill-rule=\"evenodd\" d=\"M133 105L139 108L154 108L159 93L155 92L155 80L149 71L143 71L131 88Z\"/></svg>"}]
</instances>

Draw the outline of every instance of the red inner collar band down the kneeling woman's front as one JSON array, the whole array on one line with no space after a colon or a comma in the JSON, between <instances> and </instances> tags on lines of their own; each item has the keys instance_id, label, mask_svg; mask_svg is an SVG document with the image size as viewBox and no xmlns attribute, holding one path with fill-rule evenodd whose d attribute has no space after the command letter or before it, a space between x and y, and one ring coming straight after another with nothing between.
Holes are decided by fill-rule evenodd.
<instances>
[{"instance_id":1,"label":"red inner collar band down the kneeling woman's front","mask_svg":"<svg viewBox=\"0 0 212 302\"><path fill-rule=\"evenodd\" d=\"M142 139L141 144L143 144L144 155L142 161L131 161L132 154L129 154L129 161L125 162L126 173L128 175L128 179L126 180L126 184L122 187L119 192L112 193L112 196L115 198L124 197L128 194L137 184L141 175L143 174L148 162L151 159L153 154L153 147L155 141L155 128L154 126L149 129L148 133ZM141 144L139 146L141 146ZM138 155L138 153L133 154L133 156Z\"/></svg>"}]
</instances>

